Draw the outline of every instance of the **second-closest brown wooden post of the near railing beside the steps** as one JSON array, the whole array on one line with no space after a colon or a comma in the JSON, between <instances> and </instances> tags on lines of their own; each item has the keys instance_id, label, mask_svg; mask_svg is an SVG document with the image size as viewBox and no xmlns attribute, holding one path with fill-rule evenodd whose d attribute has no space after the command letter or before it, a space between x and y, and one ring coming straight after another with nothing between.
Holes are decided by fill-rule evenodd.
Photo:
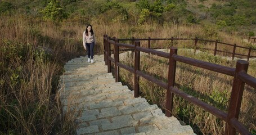
<instances>
[{"instance_id":1,"label":"second-closest brown wooden post of the near railing beside the steps","mask_svg":"<svg viewBox=\"0 0 256 135\"><path fill-rule=\"evenodd\" d=\"M171 92L170 86L174 87L175 83L175 74L176 74L176 61L173 59L173 55L177 54L177 47L170 47L170 56L169 56L169 70L168 70L168 89L167 89L167 97L166 97L166 110L165 116L172 116L173 109L173 95Z\"/></svg>"}]
</instances>

